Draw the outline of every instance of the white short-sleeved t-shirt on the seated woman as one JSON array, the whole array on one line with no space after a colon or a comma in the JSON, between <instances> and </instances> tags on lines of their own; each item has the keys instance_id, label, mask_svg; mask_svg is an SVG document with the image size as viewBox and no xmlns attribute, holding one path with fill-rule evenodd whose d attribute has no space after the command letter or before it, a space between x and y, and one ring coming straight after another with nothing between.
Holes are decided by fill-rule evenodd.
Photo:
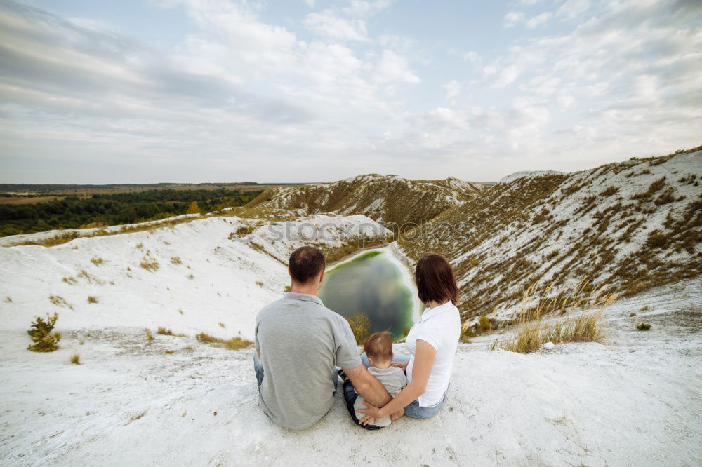
<instances>
[{"instance_id":1,"label":"white short-sleeved t-shirt on the seated woman","mask_svg":"<svg viewBox=\"0 0 702 467\"><path fill-rule=\"evenodd\" d=\"M443 305L425 309L420 320L409 330L405 339L407 350L411 353L407 365L407 384L412 382L417 341L425 341L437 351L427 382L427 391L418 398L420 407L437 405L444 397L446 389L449 388L453 356L456 355L459 337L461 314L450 300Z\"/></svg>"}]
</instances>

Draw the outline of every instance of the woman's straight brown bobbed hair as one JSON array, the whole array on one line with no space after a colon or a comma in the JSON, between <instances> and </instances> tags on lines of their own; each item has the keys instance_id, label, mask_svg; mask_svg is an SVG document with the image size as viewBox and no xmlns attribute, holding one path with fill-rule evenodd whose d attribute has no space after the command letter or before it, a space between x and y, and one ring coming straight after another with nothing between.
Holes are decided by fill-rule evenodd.
<instances>
[{"instance_id":1,"label":"woman's straight brown bobbed hair","mask_svg":"<svg viewBox=\"0 0 702 467\"><path fill-rule=\"evenodd\" d=\"M414 280L419 299L423 303L451 300L454 305L458 304L456 276L453 275L451 264L442 255L427 253L421 257L414 271Z\"/></svg>"}]
</instances>

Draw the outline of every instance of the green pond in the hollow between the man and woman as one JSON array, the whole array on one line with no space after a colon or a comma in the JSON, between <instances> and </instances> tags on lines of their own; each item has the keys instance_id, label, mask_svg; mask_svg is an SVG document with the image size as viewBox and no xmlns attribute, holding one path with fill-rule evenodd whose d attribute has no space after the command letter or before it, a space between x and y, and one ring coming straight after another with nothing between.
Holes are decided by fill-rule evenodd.
<instances>
[{"instance_id":1,"label":"green pond in the hollow between the man and woman","mask_svg":"<svg viewBox=\"0 0 702 467\"><path fill-rule=\"evenodd\" d=\"M415 302L400 267L387 252L364 253L327 271L319 298L341 316L366 313L371 333L402 338L412 327Z\"/></svg>"}]
</instances>

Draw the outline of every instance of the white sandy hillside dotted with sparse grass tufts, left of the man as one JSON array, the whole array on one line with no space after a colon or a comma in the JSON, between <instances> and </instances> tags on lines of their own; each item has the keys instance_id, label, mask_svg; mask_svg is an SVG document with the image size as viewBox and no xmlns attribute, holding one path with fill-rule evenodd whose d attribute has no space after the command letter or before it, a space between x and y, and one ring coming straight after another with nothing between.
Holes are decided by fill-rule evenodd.
<instances>
[{"instance_id":1,"label":"white sandy hillside dotted with sparse grass tufts, left of the man","mask_svg":"<svg viewBox=\"0 0 702 467\"><path fill-rule=\"evenodd\" d=\"M164 326L252 338L258 309L289 285L287 258L307 243L310 226L324 226L317 245L330 259L390 234L360 215L301 218L288 224L286 238L267 236L269 224L256 238L237 234L250 226L238 217L209 217L51 248L0 248L2 329L24 334L34 316L57 311L62 329Z\"/></svg>"}]
</instances>

